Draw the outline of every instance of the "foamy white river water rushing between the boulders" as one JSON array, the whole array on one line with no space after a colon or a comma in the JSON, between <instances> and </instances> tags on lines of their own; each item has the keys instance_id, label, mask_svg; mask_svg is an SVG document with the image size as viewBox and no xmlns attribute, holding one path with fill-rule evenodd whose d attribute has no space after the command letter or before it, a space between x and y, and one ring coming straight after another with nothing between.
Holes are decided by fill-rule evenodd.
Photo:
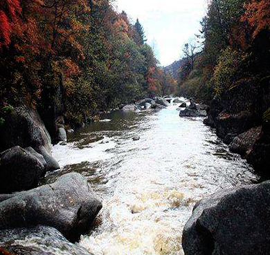
<instances>
[{"instance_id":1,"label":"foamy white river water rushing between the boulders","mask_svg":"<svg viewBox=\"0 0 270 255\"><path fill-rule=\"evenodd\" d=\"M62 170L46 182L78 171L102 198L92 231L79 242L89 252L183 254L183 226L195 202L258 180L202 118L181 118L178 106L108 113L53 147Z\"/></svg>"}]
</instances>

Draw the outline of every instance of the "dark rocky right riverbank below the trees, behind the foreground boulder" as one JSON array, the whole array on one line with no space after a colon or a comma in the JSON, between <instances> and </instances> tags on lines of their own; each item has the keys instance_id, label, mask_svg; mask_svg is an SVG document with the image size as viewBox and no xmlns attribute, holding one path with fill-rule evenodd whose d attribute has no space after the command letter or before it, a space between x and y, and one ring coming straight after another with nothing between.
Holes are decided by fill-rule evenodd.
<instances>
[{"instance_id":1,"label":"dark rocky right riverbank below the trees, behind the foreground boulder","mask_svg":"<svg viewBox=\"0 0 270 255\"><path fill-rule=\"evenodd\" d=\"M269 178L270 124L254 111L228 113L222 101L215 97L210 105L208 126L217 130L217 136L230 150L246 158L258 173Z\"/></svg>"}]
</instances>

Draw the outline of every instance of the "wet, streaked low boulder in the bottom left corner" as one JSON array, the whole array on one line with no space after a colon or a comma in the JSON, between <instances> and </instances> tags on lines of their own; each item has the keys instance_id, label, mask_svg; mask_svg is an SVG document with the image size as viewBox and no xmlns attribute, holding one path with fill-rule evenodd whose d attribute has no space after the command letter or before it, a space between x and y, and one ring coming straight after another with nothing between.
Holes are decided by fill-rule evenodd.
<instances>
[{"instance_id":1,"label":"wet, streaked low boulder in the bottom left corner","mask_svg":"<svg viewBox=\"0 0 270 255\"><path fill-rule=\"evenodd\" d=\"M80 245L66 240L57 229L41 225L0 231L0 247L20 255L91 255Z\"/></svg>"}]
</instances>

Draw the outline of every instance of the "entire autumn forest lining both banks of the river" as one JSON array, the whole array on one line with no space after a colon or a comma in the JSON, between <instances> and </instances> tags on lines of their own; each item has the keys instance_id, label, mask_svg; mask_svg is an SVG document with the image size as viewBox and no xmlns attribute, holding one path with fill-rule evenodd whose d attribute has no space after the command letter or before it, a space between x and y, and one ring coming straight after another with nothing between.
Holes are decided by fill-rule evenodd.
<instances>
[{"instance_id":1,"label":"entire autumn forest lining both banks of the river","mask_svg":"<svg viewBox=\"0 0 270 255\"><path fill-rule=\"evenodd\" d=\"M267 0L209 1L201 30L173 71L159 65L141 23L116 12L114 1L2 3L0 123L9 107L24 104L45 122L64 115L80 125L99 111L170 93L208 104L217 95L228 111L255 108L269 118L269 98L253 102L269 89Z\"/></svg>"}]
</instances>

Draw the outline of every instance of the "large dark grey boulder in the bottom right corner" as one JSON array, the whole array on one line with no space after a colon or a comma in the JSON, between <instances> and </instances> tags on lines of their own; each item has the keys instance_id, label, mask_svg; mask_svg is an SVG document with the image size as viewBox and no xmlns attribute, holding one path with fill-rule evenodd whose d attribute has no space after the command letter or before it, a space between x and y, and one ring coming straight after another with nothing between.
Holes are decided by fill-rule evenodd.
<instances>
[{"instance_id":1,"label":"large dark grey boulder in the bottom right corner","mask_svg":"<svg viewBox=\"0 0 270 255\"><path fill-rule=\"evenodd\" d=\"M270 181L219 191L195 205L183 229L186 255L266 255Z\"/></svg>"}]
</instances>

